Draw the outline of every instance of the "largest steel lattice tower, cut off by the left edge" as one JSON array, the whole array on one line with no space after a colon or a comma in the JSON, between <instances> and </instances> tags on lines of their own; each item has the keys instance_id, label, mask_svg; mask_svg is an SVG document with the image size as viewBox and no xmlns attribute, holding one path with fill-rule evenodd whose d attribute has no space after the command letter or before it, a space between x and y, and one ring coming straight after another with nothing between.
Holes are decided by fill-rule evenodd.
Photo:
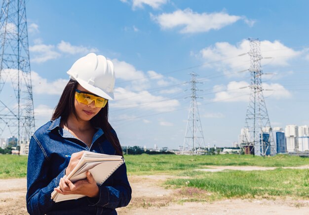
<instances>
[{"instance_id":1,"label":"largest steel lattice tower, cut off by the left edge","mask_svg":"<svg viewBox=\"0 0 309 215\"><path fill-rule=\"evenodd\" d=\"M35 130L25 0L3 0L0 12L0 137L18 146Z\"/></svg>"}]
</instances>

